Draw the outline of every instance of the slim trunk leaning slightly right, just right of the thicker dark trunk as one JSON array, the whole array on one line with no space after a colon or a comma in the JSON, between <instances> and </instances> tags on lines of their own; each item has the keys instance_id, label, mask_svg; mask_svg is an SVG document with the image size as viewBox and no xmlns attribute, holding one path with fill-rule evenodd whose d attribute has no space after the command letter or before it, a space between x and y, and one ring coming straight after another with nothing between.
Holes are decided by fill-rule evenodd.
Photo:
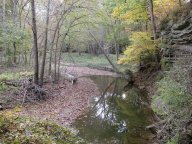
<instances>
[{"instance_id":1,"label":"slim trunk leaning slightly right, just right of the thicker dark trunk","mask_svg":"<svg viewBox=\"0 0 192 144\"><path fill-rule=\"evenodd\" d=\"M44 71L45 71L45 60L46 60L46 54L47 54L47 42L48 42L48 26L49 26L50 3L51 3L51 0L48 0L48 5L47 5L47 18L46 18L46 28L45 28L45 45L44 45L43 60L42 60L41 75L40 75L40 85L41 85L41 86L43 85L43 77L44 77Z\"/></svg>"}]
</instances>

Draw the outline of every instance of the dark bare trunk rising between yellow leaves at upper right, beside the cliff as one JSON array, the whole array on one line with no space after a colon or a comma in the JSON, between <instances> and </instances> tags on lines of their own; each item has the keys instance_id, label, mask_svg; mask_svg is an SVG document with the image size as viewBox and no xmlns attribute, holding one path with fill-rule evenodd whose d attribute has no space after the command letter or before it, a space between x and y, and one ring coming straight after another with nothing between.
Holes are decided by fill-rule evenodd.
<instances>
[{"instance_id":1,"label":"dark bare trunk rising between yellow leaves at upper right, beside the cliff","mask_svg":"<svg viewBox=\"0 0 192 144\"><path fill-rule=\"evenodd\" d=\"M156 24L155 24L155 16L154 16L154 12L153 12L153 0L149 0L149 13L150 13L150 17L151 17L153 37L154 37L154 39L157 39L157 29L156 29Z\"/></svg>"}]
</instances>

